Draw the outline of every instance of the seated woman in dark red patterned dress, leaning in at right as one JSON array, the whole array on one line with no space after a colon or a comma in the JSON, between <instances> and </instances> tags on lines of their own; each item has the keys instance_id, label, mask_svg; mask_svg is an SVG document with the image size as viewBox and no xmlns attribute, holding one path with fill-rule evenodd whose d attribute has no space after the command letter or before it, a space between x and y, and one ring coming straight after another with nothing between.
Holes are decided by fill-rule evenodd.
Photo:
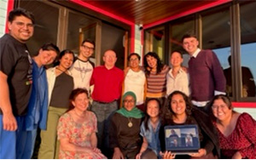
<instances>
[{"instance_id":1,"label":"seated woman in dark red patterned dress, leaning in at right","mask_svg":"<svg viewBox=\"0 0 256 160\"><path fill-rule=\"evenodd\" d=\"M216 95L211 106L222 158L256 159L256 122L253 117L233 111L226 95Z\"/></svg>"}]
</instances>

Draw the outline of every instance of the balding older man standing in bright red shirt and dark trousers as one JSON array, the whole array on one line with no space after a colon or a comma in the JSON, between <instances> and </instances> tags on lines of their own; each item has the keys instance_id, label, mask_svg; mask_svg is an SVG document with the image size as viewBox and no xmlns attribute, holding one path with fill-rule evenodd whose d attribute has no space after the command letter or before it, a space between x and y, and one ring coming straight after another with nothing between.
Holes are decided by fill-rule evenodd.
<instances>
[{"instance_id":1,"label":"balding older man standing in bright red shirt and dark trousers","mask_svg":"<svg viewBox=\"0 0 256 160\"><path fill-rule=\"evenodd\" d=\"M96 113L98 147L103 153L108 150L109 117L118 109L124 80L124 72L114 66L116 60L115 52L107 50L103 56L104 66L97 66L90 79L90 85L94 84L91 111Z\"/></svg>"}]
</instances>

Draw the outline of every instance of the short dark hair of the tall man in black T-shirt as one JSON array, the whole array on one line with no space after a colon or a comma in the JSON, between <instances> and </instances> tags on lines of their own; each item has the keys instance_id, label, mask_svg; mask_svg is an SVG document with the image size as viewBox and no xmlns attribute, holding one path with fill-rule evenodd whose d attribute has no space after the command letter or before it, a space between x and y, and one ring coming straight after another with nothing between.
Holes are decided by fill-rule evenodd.
<instances>
[{"instance_id":1,"label":"short dark hair of the tall man in black T-shirt","mask_svg":"<svg viewBox=\"0 0 256 160\"><path fill-rule=\"evenodd\" d=\"M31 12L27 11L26 9L21 9L21 8L10 11L8 21L13 22L17 16L21 16L21 15L32 20L32 24L35 24L34 15Z\"/></svg>"}]
</instances>

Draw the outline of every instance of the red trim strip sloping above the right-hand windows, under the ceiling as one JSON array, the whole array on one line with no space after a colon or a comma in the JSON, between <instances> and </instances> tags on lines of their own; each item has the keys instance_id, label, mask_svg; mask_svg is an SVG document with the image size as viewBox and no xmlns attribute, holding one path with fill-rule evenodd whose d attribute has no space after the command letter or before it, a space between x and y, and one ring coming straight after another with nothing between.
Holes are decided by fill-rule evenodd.
<instances>
[{"instance_id":1,"label":"red trim strip sloping above the right-hand windows, under the ceiling","mask_svg":"<svg viewBox=\"0 0 256 160\"><path fill-rule=\"evenodd\" d=\"M144 29L148 29L148 28L150 28L152 26L158 26L160 24L166 23L166 22L171 21L171 20L175 20L177 18L186 16L186 15L189 15L189 14L195 14L196 12L200 12L201 10L205 10L205 9L210 9L210 8L218 6L220 4L229 3L230 1L232 1L232 0L218 0L218 1L214 1L213 3L208 3L208 4L204 5L204 6L184 11L181 14L175 14L175 15L172 15L171 17L167 17L166 19L155 21L153 23L145 25Z\"/></svg>"}]
</instances>

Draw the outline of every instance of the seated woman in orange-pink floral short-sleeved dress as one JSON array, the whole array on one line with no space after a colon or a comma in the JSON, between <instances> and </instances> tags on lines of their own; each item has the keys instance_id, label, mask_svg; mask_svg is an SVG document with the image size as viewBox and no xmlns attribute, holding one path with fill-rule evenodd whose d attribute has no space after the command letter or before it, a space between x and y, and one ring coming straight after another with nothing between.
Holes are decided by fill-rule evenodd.
<instances>
[{"instance_id":1,"label":"seated woman in orange-pink floral short-sleeved dress","mask_svg":"<svg viewBox=\"0 0 256 160\"><path fill-rule=\"evenodd\" d=\"M86 89L74 89L69 97L69 110L58 123L58 139L61 142L61 159L107 158L96 148L96 116L87 111L89 106Z\"/></svg>"}]
</instances>

